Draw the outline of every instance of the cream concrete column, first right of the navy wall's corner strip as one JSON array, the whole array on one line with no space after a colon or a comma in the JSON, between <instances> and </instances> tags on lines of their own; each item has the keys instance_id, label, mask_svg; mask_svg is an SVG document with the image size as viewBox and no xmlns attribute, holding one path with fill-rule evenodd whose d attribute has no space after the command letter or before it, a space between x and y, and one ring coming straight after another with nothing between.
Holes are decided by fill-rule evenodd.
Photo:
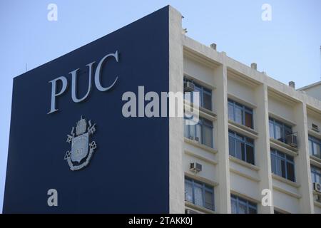
<instances>
[{"instance_id":1,"label":"cream concrete column, first right of the navy wall's corner strip","mask_svg":"<svg viewBox=\"0 0 321 228\"><path fill-rule=\"evenodd\" d=\"M225 53L223 53L225 58ZM230 161L228 152L228 73L227 68L223 64L215 69L214 83L216 86L214 102L217 113L217 135L215 140L218 149L218 165L216 170L219 170L218 187L215 190L220 196L216 207L219 213L230 213Z\"/></svg>"}]
</instances>

